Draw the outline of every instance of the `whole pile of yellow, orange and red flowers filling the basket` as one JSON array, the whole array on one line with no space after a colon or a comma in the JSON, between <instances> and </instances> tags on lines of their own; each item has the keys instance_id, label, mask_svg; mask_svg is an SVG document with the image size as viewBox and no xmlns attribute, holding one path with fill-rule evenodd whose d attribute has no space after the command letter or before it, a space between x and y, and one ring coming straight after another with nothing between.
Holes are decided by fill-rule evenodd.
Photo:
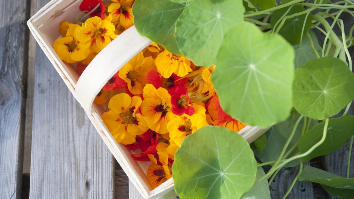
<instances>
[{"instance_id":1,"label":"whole pile of yellow, orange and red flowers filling the basket","mask_svg":"<svg viewBox=\"0 0 354 199\"><path fill-rule=\"evenodd\" d=\"M84 0L80 9L91 18L81 25L67 21L59 25L63 37L53 48L65 62L77 63L79 75L97 53L133 25L134 1L112 1ZM184 137L206 125L235 132L246 126L222 110L211 83L214 69L196 66L152 43L96 96L95 104L108 102L102 118L115 140L133 151L136 160L152 162L147 171L152 188L172 177L174 154Z\"/></svg>"}]
</instances>

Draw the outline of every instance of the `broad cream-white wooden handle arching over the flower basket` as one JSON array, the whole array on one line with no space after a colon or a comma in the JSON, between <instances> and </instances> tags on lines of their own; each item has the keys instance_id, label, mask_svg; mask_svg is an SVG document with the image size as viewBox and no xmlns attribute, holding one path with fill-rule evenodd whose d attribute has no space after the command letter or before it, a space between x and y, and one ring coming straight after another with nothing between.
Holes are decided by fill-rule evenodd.
<instances>
[{"instance_id":1,"label":"broad cream-white wooden handle arching over the flower basket","mask_svg":"<svg viewBox=\"0 0 354 199\"><path fill-rule=\"evenodd\" d=\"M110 42L82 72L76 84L76 94L87 113L92 112L96 95L124 64L147 47L152 41L130 27Z\"/></svg>"}]
</instances>

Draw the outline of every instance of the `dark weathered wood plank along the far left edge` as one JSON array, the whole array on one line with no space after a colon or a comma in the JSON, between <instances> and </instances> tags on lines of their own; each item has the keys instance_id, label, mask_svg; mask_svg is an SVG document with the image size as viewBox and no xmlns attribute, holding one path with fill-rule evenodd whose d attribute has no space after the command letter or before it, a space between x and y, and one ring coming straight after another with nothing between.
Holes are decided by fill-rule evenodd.
<instances>
[{"instance_id":1,"label":"dark weathered wood plank along the far left edge","mask_svg":"<svg viewBox=\"0 0 354 199\"><path fill-rule=\"evenodd\" d=\"M20 198L29 17L26 0L0 0L0 193Z\"/></svg>"}]
</instances>

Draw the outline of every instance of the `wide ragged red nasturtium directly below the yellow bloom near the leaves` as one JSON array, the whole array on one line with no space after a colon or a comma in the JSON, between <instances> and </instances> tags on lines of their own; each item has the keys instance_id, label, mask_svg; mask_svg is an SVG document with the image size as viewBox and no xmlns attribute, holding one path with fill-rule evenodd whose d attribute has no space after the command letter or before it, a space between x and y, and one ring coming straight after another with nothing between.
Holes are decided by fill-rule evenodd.
<instances>
[{"instance_id":1,"label":"wide ragged red nasturtium directly below the yellow bloom near the leaves","mask_svg":"<svg viewBox=\"0 0 354 199\"><path fill-rule=\"evenodd\" d=\"M187 78L183 78L181 80L179 80L179 78L181 77L174 73L169 78L163 78L157 71L151 70L146 75L146 82L153 84L156 89L160 87L165 88L170 95L174 95L176 93L176 88L179 86L184 86L184 84L188 81Z\"/></svg>"}]
</instances>

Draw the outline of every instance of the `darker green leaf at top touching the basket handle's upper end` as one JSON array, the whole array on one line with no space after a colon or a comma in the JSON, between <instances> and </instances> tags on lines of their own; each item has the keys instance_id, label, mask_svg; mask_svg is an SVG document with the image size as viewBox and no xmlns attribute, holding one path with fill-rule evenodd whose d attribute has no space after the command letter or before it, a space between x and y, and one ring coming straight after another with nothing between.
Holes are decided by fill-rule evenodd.
<instances>
[{"instance_id":1,"label":"darker green leaf at top touching the basket handle's upper end","mask_svg":"<svg viewBox=\"0 0 354 199\"><path fill-rule=\"evenodd\" d=\"M142 36L163 45L168 51L181 54L175 38L175 24L187 3L168 0L135 0L134 25Z\"/></svg>"}]
</instances>

